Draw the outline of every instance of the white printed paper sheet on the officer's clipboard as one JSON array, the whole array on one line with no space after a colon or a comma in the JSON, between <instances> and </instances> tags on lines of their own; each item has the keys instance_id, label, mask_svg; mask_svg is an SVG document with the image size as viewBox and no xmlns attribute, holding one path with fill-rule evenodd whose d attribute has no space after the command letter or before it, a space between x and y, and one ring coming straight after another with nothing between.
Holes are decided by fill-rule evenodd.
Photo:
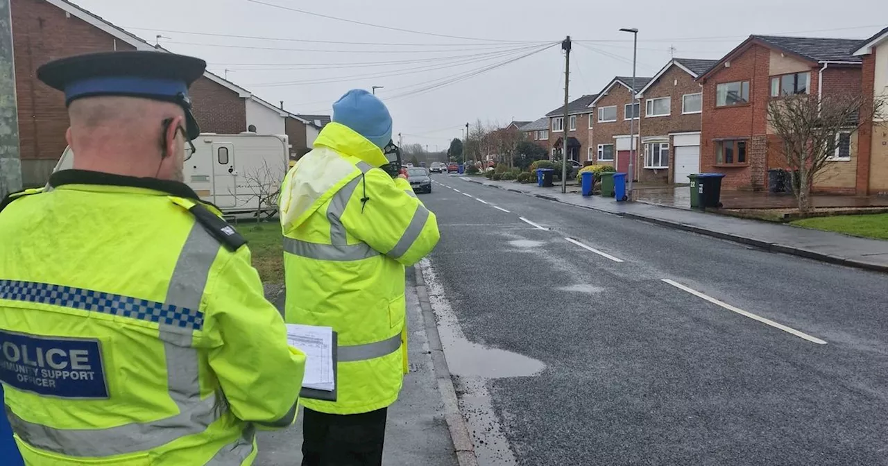
<instances>
[{"instance_id":1,"label":"white printed paper sheet on the officer's clipboard","mask_svg":"<svg viewBox=\"0 0 888 466\"><path fill-rule=\"evenodd\" d=\"M304 388L336 390L333 342L333 328L287 324L287 343L305 353Z\"/></svg>"}]
</instances>

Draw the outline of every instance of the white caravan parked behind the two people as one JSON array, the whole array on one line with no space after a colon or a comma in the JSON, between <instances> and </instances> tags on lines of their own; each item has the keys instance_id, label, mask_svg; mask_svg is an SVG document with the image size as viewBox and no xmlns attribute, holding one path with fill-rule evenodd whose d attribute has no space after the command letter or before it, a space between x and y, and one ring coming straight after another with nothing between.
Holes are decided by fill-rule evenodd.
<instances>
[{"instance_id":1,"label":"white caravan parked behind the two people","mask_svg":"<svg viewBox=\"0 0 888 466\"><path fill-rule=\"evenodd\" d=\"M277 193L289 168L287 136L203 133L192 142L185 182L203 201L230 215L276 213ZM53 171L73 167L74 152L67 147Z\"/></svg>"}]
</instances>

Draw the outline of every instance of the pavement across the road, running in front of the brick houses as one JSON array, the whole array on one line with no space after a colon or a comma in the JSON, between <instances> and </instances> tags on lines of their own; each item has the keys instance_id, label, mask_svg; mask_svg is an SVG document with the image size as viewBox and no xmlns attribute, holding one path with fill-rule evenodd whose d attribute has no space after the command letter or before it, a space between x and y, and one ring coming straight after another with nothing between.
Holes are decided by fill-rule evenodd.
<instances>
[{"instance_id":1,"label":"pavement across the road, running in front of the brick houses","mask_svg":"<svg viewBox=\"0 0 888 466\"><path fill-rule=\"evenodd\" d=\"M807 257L831 264L888 272L888 241L823 232L746 218L725 217L696 210L670 209L641 202L617 202L601 196L561 194L559 186L539 187L484 178L458 178L489 187L527 194L585 209L595 209L657 225L677 228L771 252ZM461 183L456 181L456 183Z\"/></svg>"}]
</instances>

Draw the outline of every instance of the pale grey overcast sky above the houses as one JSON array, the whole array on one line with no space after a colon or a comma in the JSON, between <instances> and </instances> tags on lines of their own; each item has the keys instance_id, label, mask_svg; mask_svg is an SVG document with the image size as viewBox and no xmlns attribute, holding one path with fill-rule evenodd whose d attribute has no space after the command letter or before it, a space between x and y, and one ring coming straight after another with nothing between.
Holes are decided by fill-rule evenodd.
<instances>
[{"instance_id":1,"label":"pale grey overcast sky above the houses","mask_svg":"<svg viewBox=\"0 0 888 466\"><path fill-rule=\"evenodd\" d=\"M670 59L670 47L676 57L718 59L749 34L866 38L888 26L884 0L74 2L151 43L168 37L160 43L170 51L205 59L218 75L227 68L229 80L292 112L329 114L345 91L385 86L377 95L395 132L432 150L460 137L465 122L529 121L559 107L560 46L530 53L567 35L579 41L571 54L576 99L614 75L631 75L631 36L619 28L639 29L638 75L650 76Z\"/></svg>"}]
</instances>

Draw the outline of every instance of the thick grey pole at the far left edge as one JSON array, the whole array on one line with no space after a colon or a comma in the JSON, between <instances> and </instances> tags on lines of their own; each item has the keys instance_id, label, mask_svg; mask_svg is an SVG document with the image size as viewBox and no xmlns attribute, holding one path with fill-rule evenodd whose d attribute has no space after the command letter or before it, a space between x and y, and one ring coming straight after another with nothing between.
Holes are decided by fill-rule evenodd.
<instances>
[{"instance_id":1,"label":"thick grey pole at the far left edge","mask_svg":"<svg viewBox=\"0 0 888 466\"><path fill-rule=\"evenodd\" d=\"M12 6L0 0L0 198L21 190L19 110L12 59Z\"/></svg>"}]
</instances>

